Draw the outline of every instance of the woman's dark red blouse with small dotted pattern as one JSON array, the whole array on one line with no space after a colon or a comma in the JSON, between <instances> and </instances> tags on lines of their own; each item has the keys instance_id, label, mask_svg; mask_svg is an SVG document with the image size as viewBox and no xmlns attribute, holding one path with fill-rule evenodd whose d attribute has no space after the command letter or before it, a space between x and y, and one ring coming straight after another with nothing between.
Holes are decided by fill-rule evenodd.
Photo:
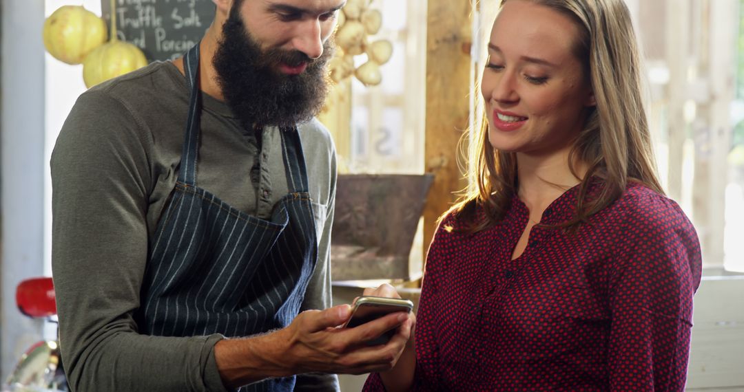
<instances>
[{"instance_id":1,"label":"woman's dark red blouse with small dotted pattern","mask_svg":"<svg viewBox=\"0 0 744 392\"><path fill-rule=\"evenodd\" d=\"M571 218L577 192L542 223ZM414 391L683 391L701 255L682 209L632 183L573 234L536 226L511 261L527 218L514 197L478 234L447 230L452 216L440 226L417 313ZM365 391L385 391L377 374Z\"/></svg>"}]
</instances>

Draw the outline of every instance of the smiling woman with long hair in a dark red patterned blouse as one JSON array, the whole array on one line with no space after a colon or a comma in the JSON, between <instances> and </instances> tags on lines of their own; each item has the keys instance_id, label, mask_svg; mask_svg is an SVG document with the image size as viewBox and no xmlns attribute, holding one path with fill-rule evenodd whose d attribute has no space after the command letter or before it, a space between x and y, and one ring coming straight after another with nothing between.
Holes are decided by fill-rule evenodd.
<instances>
[{"instance_id":1,"label":"smiling woman with long hair in a dark red patterned blouse","mask_svg":"<svg viewBox=\"0 0 744 392\"><path fill-rule=\"evenodd\" d=\"M699 242L655 177L626 5L504 0L488 51L477 189L365 390L682 391Z\"/></svg>"}]
</instances>

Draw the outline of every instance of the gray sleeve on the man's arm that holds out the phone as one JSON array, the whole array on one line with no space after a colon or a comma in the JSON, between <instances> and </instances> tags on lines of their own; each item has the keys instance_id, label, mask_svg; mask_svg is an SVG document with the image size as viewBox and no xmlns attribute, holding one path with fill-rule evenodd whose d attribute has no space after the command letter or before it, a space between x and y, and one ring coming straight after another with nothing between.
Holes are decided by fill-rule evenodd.
<instances>
[{"instance_id":1,"label":"gray sleeve on the man's arm that holds out the phone","mask_svg":"<svg viewBox=\"0 0 744 392\"><path fill-rule=\"evenodd\" d=\"M222 336L138 333L152 136L97 89L77 100L51 157L52 270L72 391L225 391Z\"/></svg>"}]
</instances>

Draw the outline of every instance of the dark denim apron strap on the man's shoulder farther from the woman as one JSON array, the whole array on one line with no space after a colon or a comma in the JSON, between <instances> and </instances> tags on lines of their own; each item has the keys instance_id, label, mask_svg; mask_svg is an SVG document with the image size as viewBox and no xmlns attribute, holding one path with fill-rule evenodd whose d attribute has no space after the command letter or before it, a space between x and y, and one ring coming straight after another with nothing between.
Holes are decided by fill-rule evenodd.
<instances>
[{"instance_id":1,"label":"dark denim apron strap on the man's shoulder farther from the woman","mask_svg":"<svg viewBox=\"0 0 744 392\"><path fill-rule=\"evenodd\" d=\"M199 154L199 119L202 114L202 111L199 110L202 107L202 94L199 91L199 42L196 42L196 45L186 53L184 57L184 71L191 95L184 145L181 153L179 181L196 186L196 160Z\"/></svg>"}]
</instances>

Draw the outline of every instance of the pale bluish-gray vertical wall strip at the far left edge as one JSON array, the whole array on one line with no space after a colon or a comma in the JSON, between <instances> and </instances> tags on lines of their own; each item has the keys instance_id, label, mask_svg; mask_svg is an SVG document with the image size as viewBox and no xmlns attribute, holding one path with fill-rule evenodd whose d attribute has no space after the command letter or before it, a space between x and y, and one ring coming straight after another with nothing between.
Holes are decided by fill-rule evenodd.
<instances>
[{"instance_id":1,"label":"pale bluish-gray vertical wall strip at the far left edge","mask_svg":"<svg viewBox=\"0 0 744 392\"><path fill-rule=\"evenodd\" d=\"M39 339L41 321L19 313L16 285L43 275L43 0L3 0L0 43L1 259L0 375Z\"/></svg>"}]
</instances>

